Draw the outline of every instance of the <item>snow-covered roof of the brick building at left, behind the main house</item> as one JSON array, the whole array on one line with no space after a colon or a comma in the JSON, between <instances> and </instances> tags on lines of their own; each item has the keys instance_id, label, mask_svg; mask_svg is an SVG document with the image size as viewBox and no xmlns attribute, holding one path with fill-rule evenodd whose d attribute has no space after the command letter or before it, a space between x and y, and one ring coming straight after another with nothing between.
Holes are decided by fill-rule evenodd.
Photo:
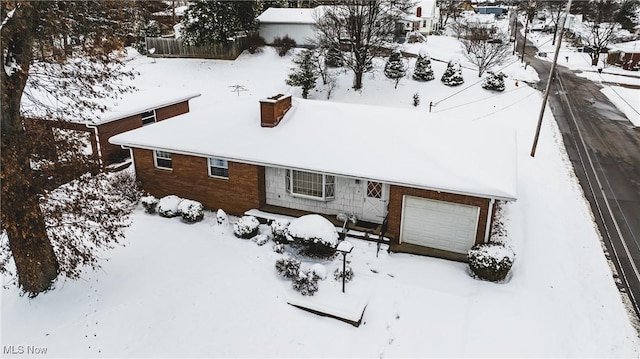
<instances>
[{"instance_id":1,"label":"snow-covered roof of the brick building at left, behind the main house","mask_svg":"<svg viewBox=\"0 0 640 359\"><path fill-rule=\"evenodd\" d=\"M126 93L117 100L109 100L109 109L88 121L77 122L101 125L160 107L175 105L200 96L199 93L179 88L153 87Z\"/></svg>"}]
</instances>

